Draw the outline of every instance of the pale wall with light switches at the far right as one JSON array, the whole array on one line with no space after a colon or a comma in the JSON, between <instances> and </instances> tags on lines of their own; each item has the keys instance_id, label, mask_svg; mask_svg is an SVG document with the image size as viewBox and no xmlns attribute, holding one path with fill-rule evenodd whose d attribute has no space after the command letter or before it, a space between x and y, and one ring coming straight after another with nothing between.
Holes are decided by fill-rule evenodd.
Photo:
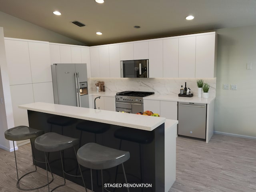
<instances>
[{"instance_id":1,"label":"pale wall with light switches at the far right","mask_svg":"<svg viewBox=\"0 0 256 192\"><path fill-rule=\"evenodd\" d=\"M256 26L217 33L214 131L256 137ZM237 90L223 90L223 84L237 84Z\"/></svg>"}]
</instances>

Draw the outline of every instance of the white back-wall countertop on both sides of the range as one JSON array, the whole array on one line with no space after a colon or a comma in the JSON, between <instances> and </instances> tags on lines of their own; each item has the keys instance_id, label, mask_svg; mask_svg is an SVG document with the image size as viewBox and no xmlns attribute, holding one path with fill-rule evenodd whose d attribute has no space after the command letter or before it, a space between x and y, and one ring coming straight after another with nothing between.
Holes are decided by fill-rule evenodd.
<instances>
[{"instance_id":1,"label":"white back-wall countertop on both sides of the range","mask_svg":"<svg viewBox=\"0 0 256 192\"><path fill-rule=\"evenodd\" d=\"M89 95L93 96L108 96L114 97L116 92L91 92ZM215 100L215 97L210 98L198 98L197 96L193 97L179 97L178 94L154 94L146 96L144 100L161 100L161 101L175 101L175 102L193 102L193 103L206 103L210 104Z\"/></svg>"}]
</instances>

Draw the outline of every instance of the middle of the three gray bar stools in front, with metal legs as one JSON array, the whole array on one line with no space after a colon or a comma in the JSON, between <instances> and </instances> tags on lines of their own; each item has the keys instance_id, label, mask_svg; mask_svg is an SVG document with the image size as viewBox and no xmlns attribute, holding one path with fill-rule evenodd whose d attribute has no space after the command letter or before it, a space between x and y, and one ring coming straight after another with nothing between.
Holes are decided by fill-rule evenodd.
<instances>
[{"instance_id":1,"label":"middle of the three gray bar stools in front, with metal legs","mask_svg":"<svg viewBox=\"0 0 256 192\"><path fill-rule=\"evenodd\" d=\"M67 172L65 172L64 166L63 166L63 157L62 157L62 153L61 153L62 150L73 147L75 155L76 155L75 145L77 145L78 143L79 143L79 139L67 137L67 136L60 135L60 134L57 134L57 133L54 133L54 132L48 132L48 133L43 134L43 135L36 138L35 148L44 152L44 157L45 157L45 160L47 161L47 163L49 163L49 162L48 162L47 157L46 157L46 152L60 151L60 159L61 159L61 164L62 164L64 184L56 186L55 188L53 188L51 190L51 192L53 190L55 190L56 188L59 188L60 186L64 186L66 184L65 174L70 175L70 176L75 176L75 177L82 177L82 180L83 180L83 183L84 183L84 178L83 178L82 171L81 171L81 168L80 168L79 164L78 164L78 167L79 167L81 175L79 175L79 176L71 175L71 174L68 174ZM50 192L50 186L49 186L50 183L49 183L49 179L48 179L47 166L46 166L46 172L47 172L48 191ZM87 192L85 183L84 183L84 188Z\"/></svg>"}]
</instances>

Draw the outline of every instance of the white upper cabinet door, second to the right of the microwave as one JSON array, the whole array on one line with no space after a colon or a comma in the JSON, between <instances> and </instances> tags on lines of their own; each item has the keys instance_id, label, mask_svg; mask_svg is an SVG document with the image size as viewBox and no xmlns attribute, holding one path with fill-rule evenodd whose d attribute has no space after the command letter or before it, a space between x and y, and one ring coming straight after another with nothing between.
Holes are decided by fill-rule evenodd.
<instances>
[{"instance_id":1,"label":"white upper cabinet door, second to the right of the microwave","mask_svg":"<svg viewBox=\"0 0 256 192\"><path fill-rule=\"evenodd\" d=\"M163 77L177 78L179 65L179 39L163 40Z\"/></svg>"}]
</instances>

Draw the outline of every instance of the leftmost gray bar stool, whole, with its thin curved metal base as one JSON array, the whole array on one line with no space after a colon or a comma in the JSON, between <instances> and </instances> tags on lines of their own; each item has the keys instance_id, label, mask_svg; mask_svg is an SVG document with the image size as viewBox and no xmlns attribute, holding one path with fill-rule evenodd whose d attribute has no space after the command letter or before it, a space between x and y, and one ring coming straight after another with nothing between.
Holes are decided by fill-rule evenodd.
<instances>
[{"instance_id":1,"label":"leftmost gray bar stool, whole, with its thin curved metal base","mask_svg":"<svg viewBox=\"0 0 256 192\"><path fill-rule=\"evenodd\" d=\"M31 128L31 127L28 127L28 126L16 126L14 128L10 128L10 129L8 129L8 130L6 130L4 132L5 138L7 140L11 140L13 142L13 147L14 147L14 141L21 141L21 140L30 139L31 150L32 150L32 158L33 158L33 161L34 161L36 169L34 171L31 171L31 172L28 172L28 173L24 174L20 178L18 176L18 166L17 166L16 152L15 152L15 147L14 147L14 157L15 157L15 165L16 165L16 172L17 172L17 184L16 184L16 186L20 190L36 190L36 189L39 189L39 188L42 188L42 187L45 187L45 186L48 185L48 183L47 183L47 184L45 184L43 186L35 187L35 188L22 188L22 187L20 187L20 180L24 176L26 176L26 175L28 175L30 173L36 172L36 170L37 170L36 162L41 162L41 161L38 161L38 160L35 159L32 142L34 141L34 139L36 137L38 137L38 136L40 136L42 134L44 134L44 131L37 130L37 129ZM41 163L44 163L44 162L41 162ZM51 170L50 170L50 172L52 174ZM52 180L50 181L50 183L52 181L53 181L53 175L52 175Z\"/></svg>"}]
</instances>

